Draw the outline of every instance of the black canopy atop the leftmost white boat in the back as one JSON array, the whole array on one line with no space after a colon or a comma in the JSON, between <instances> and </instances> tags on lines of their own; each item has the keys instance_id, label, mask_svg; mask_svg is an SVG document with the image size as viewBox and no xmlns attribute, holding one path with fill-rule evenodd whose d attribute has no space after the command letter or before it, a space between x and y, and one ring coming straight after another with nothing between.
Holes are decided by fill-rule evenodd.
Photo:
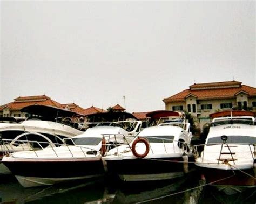
<instances>
[{"instance_id":1,"label":"black canopy atop the leftmost white boat in the back","mask_svg":"<svg viewBox=\"0 0 256 204\"><path fill-rule=\"evenodd\" d=\"M47 121L55 121L58 117L85 117L85 115L78 114L77 112L50 105L29 105L22 108L21 111L31 115L37 115Z\"/></svg>"}]
</instances>

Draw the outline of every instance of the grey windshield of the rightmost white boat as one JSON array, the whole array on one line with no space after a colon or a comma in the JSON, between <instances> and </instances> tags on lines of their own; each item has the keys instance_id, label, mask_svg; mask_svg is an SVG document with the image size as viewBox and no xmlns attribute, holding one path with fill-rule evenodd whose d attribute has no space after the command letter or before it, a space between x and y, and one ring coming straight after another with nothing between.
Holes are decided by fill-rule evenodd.
<instances>
[{"instance_id":1,"label":"grey windshield of the rightmost white boat","mask_svg":"<svg viewBox=\"0 0 256 204\"><path fill-rule=\"evenodd\" d=\"M223 143L223 140L221 140L220 137L213 137L209 138L208 144L216 144L216 143ZM236 144L255 144L256 143L256 137L251 136L227 136L227 144L229 143L236 143Z\"/></svg>"}]
</instances>

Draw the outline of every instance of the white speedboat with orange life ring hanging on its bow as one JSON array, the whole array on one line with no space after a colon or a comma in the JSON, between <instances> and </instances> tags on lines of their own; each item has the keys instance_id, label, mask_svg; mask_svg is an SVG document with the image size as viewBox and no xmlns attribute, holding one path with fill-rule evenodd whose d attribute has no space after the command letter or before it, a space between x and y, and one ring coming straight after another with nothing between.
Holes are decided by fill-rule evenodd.
<instances>
[{"instance_id":1,"label":"white speedboat with orange life ring hanging on its bow","mask_svg":"<svg viewBox=\"0 0 256 204\"><path fill-rule=\"evenodd\" d=\"M152 181L181 177L188 172L190 124L169 122L143 129L129 144L103 157L109 174L124 181Z\"/></svg>"}]
</instances>

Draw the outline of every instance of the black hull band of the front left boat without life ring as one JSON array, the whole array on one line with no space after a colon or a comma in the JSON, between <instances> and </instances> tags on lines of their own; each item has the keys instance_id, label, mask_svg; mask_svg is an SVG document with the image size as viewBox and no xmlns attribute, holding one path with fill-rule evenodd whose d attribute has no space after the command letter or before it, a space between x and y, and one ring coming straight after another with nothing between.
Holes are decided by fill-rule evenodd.
<instances>
[{"instance_id":1,"label":"black hull band of the front left boat without life ring","mask_svg":"<svg viewBox=\"0 0 256 204\"><path fill-rule=\"evenodd\" d=\"M4 161L14 175L38 178L70 178L104 174L102 160Z\"/></svg>"}]
</instances>

